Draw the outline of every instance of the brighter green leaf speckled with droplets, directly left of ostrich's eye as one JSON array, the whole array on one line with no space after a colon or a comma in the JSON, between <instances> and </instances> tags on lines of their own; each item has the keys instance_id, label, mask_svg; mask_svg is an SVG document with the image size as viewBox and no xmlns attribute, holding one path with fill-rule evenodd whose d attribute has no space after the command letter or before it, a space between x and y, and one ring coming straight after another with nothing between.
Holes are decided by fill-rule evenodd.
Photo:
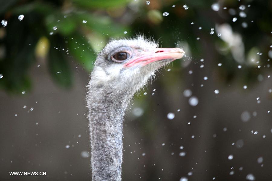
<instances>
[{"instance_id":1,"label":"brighter green leaf speckled with droplets, directly left of ostrich's eye","mask_svg":"<svg viewBox=\"0 0 272 181\"><path fill-rule=\"evenodd\" d=\"M73 35L67 39L70 56L76 59L87 71L92 70L96 54L91 49L85 37Z\"/></svg>"}]
</instances>

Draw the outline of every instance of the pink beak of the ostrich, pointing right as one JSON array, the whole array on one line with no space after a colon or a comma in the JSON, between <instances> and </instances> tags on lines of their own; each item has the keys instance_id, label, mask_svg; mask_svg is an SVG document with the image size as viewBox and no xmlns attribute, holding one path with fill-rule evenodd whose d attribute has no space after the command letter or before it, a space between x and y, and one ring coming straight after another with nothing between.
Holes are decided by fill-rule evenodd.
<instances>
[{"instance_id":1,"label":"pink beak of the ostrich, pointing right","mask_svg":"<svg viewBox=\"0 0 272 181\"><path fill-rule=\"evenodd\" d=\"M156 48L153 51L144 52L144 54L139 57L132 58L124 64L124 67L132 67L136 64L144 66L151 62L165 59L174 61L176 59L181 59L184 56L184 53L185 52L180 48Z\"/></svg>"}]
</instances>

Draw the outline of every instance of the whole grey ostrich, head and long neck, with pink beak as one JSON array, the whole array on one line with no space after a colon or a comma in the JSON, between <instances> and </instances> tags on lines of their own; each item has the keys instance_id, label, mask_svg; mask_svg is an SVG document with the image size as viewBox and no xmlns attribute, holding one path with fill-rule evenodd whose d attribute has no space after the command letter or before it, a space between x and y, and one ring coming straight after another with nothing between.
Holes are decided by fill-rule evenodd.
<instances>
[{"instance_id":1,"label":"whole grey ostrich, head and long neck, with pink beak","mask_svg":"<svg viewBox=\"0 0 272 181\"><path fill-rule=\"evenodd\" d=\"M158 68L183 55L142 36L112 40L99 53L87 86L92 181L121 180L125 110Z\"/></svg>"}]
</instances>

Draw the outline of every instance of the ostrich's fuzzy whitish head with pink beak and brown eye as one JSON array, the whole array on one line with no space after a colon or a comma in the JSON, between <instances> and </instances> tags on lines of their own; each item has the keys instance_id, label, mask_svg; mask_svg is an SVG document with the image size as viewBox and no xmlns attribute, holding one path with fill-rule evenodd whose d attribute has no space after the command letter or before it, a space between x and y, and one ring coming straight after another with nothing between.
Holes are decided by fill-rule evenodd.
<instances>
[{"instance_id":1,"label":"ostrich's fuzzy whitish head with pink beak and brown eye","mask_svg":"<svg viewBox=\"0 0 272 181\"><path fill-rule=\"evenodd\" d=\"M180 48L157 46L154 40L142 36L112 40L96 59L93 83L97 86L113 85L119 90L131 90L134 94L158 68L184 55Z\"/></svg>"}]
</instances>

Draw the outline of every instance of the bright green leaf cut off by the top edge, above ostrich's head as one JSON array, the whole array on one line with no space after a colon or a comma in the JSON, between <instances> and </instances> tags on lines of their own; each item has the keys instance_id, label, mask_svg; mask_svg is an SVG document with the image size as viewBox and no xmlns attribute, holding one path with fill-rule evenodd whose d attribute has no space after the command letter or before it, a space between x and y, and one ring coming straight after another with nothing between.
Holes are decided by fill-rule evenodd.
<instances>
[{"instance_id":1,"label":"bright green leaf cut off by the top edge, above ostrich's head","mask_svg":"<svg viewBox=\"0 0 272 181\"><path fill-rule=\"evenodd\" d=\"M83 0L72 0L74 4L81 6L83 8L113 8L120 5L126 5L131 0L89 0L89 1L83 1Z\"/></svg>"}]
</instances>

